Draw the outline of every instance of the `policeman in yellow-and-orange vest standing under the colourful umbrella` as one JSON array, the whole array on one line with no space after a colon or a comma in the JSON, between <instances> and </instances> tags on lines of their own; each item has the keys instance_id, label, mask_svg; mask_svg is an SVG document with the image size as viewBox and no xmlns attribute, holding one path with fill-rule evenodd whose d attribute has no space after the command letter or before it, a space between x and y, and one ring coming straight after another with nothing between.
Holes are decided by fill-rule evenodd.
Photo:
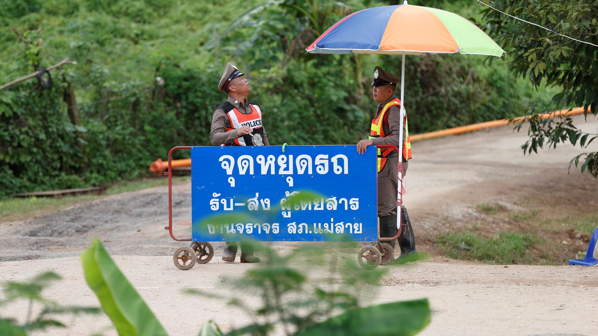
<instances>
[{"instance_id":1,"label":"policeman in yellow-and-orange vest standing under the colourful umbrella","mask_svg":"<svg viewBox=\"0 0 598 336\"><path fill-rule=\"evenodd\" d=\"M372 95L378 102L376 116L372 120L370 136L357 144L357 151L363 154L369 145L395 145L401 150L403 175L407 172L408 159L411 158L411 142L407 129L407 115L403 120L403 139L399 139L401 127L401 101L395 95L399 78L379 66L374 68ZM396 235L396 197L398 194L397 162L399 154L393 149L378 149L378 216L380 218L380 237ZM401 206L401 219L405 230L398 238L401 256L416 253L415 237L407 209ZM395 241L390 242L395 248ZM394 257L392 257L394 258Z\"/></svg>"}]
</instances>

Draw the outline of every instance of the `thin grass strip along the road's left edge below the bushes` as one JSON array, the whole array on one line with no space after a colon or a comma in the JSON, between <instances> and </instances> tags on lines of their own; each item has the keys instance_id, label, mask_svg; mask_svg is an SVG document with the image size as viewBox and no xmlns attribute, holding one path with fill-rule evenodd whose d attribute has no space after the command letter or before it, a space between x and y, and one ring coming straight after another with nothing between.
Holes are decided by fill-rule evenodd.
<instances>
[{"instance_id":1,"label":"thin grass strip along the road's left edge below the bushes","mask_svg":"<svg viewBox=\"0 0 598 336\"><path fill-rule=\"evenodd\" d=\"M173 182L185 181L189 176L176 176ZM167 178L142 178L134 181L120 181L108 187L104 195L80 195L62 198L26 197L0 200L0 223L35 218L76 204L99 200L109 195L138 191L146 188L168 185Z\"/></svg>"}]
</instances>

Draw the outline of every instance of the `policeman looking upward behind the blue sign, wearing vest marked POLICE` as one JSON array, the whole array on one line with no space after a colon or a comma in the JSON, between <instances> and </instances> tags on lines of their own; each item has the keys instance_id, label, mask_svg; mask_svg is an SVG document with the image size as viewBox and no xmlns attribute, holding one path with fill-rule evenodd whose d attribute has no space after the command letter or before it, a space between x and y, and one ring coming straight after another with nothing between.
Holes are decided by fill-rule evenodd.
<instances>
[{"instance_id":1,"label":"policeman looking upward behind the blue sign, wearing vest marked POLICE","mask_svg":"<svg viewBox=\"0 0 598 336\"><path fill-rule=\"evenodd\" d=\"M262 124L261 109L247 100L251 85L236 66L228 62L218 89L228 94L212 116L210 140L212 145L269 146L266 130ZM237 255L237 243L226 242L222 260L233 262ZM251 245L241 243L241 262L260 262L254 256Z\"/></svg>"}]
</instances>

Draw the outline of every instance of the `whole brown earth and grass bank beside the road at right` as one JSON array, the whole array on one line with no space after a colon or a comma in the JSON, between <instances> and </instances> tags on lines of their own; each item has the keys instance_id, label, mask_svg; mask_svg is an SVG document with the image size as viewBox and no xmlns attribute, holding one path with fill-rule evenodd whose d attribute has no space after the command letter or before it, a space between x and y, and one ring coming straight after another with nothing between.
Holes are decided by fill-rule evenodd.
<instances>
[{"instance_id":1,"label":"whole brown earth and grass bank beside the road at right","mask_svg":"<svg viewBox=\"0 0 598 336\"><path fill-rule=\"evenodd\" d=\"M468 230L432 239L441 255L486 264L566 265L585 257L588 239L598 227L598 212L590 209L555 213L540 204L512 211L498 203L475 207L488 217ZM492 236L484 222L501 225L500 232Z\"/></svg>"}]
</instances>

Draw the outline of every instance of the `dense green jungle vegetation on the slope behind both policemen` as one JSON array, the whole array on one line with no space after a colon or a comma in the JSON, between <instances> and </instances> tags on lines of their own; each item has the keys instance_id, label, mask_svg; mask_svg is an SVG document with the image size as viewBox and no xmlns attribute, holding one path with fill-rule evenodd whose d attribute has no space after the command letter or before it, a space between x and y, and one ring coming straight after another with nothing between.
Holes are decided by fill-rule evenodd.
<instances>
[{"instance_id":1,"label":"dense green jungle vegetation on the slope behind both policemen","mask_svg":"<svg viewBox=\"0 0 598 336\"><path fill-rule=\"evenodd\" d=\"M0 0L0 85L66 57L77 62L51 70L49 88L33 78L0 91L0 197L135 178L173 146L210 145L226 62L246 72L272 145L356 143L376 106L374 66L400 75L401 57L304 48L353 11L397 3ZM410 4L487 28L477 2ZM560 107L550 103L558 87L536 90L509 62L508 54L407 57L410 133Z\"/></svg>"}]
</instances>

